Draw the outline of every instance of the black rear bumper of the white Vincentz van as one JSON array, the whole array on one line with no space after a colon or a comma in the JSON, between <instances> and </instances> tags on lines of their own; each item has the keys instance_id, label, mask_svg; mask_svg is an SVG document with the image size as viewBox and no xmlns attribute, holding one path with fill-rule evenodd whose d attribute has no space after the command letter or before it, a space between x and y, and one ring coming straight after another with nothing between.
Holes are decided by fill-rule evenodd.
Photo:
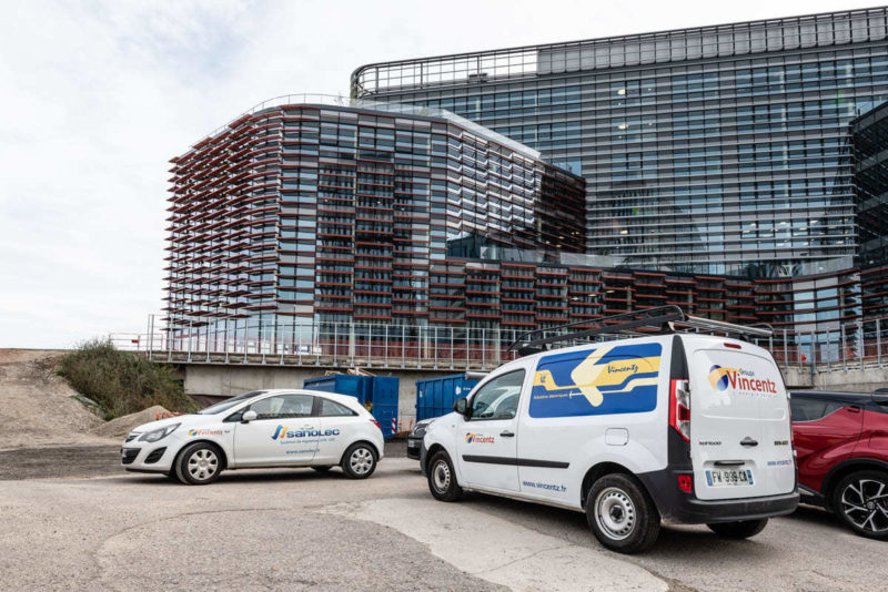
<instances>
[{"instance_id":1,"label":"black rear bumper of the white Vincentz van","mask_svg":"<svg viewBox=\"0 0 888 592\"><path fill-rule=\"evenodd\" d=\"M654 498L660 516L669 522L684 524L710 524L759 520L791 513L798 507L798 489L779 496L760 498L735 498L729 500L700 500L685 493L676 484L677 473L655 471L640 473L638 478Z\"/></svg>"}]
</instances>

